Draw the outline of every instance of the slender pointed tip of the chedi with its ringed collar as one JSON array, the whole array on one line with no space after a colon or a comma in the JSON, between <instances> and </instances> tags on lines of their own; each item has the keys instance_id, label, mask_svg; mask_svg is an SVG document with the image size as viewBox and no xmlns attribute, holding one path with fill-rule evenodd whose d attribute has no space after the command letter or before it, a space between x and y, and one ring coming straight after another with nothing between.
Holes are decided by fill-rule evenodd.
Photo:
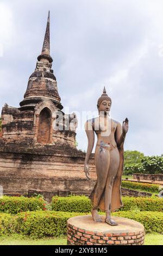
<instances>
[{"instance_id":1,"label":"slender pointed tip of the chedi with its ringed collar","mask_svg":"<svg viewBox=\"0 0 163 256\"><path fill-rule=\"evenodd\" d=\"M37 60L48 59L50 63L53 62L53 59L50 55L50 11L48 12L48 19L46 25L45 37L43 40L42 52L41 55L37 57Z\"/></svg>"}]
</instances>

